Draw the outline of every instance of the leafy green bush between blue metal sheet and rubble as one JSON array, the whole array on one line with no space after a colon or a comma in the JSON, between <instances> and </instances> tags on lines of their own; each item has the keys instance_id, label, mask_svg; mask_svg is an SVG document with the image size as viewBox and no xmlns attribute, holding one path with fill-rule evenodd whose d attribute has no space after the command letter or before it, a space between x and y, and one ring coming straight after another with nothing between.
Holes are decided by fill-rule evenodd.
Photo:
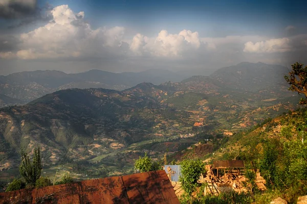
<instances>
[{"instance_id":1,"label":"leafy green bush between blue metal sheet and rubble","mask_svg":"<svg viewBox=\"0 0 307 204\"><path fill-rule=\"evenodd\" d=\"M201 160L184 160L181 162L180 182L182 189L191 195L198 186L202 173L204 173L205 164Z\"/></svg>"}]
</instances>

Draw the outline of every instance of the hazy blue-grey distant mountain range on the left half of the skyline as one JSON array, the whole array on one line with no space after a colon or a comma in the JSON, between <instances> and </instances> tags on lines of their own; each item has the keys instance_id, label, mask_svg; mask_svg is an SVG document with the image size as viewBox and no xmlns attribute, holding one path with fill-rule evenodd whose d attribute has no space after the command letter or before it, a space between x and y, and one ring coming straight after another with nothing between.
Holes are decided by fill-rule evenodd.
<instances>
[{"instance_id":1,"label":"hazy blue-grey distant mountain range on the left half of the skyline","mask_svg":"<svg viewBox=\"0 0 307 204\"><path fill-rule=\"evenodd\" d=\"M106 88L124 90L142 82L161 84L166 81L179 82L185 77L163 69L142 72L113 73L90 70L67 74L56 70L25 71L0 76L0 94L29 102L57 90L71 88ZM0 107L12 105L1 103Z\"/></svg>"}]
</instances>

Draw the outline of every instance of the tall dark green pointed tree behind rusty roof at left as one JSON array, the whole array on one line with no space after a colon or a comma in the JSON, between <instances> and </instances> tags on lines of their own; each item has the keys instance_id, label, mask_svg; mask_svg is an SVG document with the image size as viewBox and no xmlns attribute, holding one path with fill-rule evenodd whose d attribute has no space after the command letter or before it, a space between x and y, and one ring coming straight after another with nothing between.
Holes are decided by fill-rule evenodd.
<instances>
[{"instance_id":1,"label":"tall dark green pointed tree behind rusty roof at left","mask_svg":"<svg viewBox=\"0 0 307 204\"><path fill-rule=\"evenodd\" d=\"M39 148L34 149L33 161L30 160L28 154L21 153L21 164L19 166L19 173L21 177L26 181L27 185L35 186L36 181L40 177L41 173L41 160Z\"/></svg>"}]
</instances>

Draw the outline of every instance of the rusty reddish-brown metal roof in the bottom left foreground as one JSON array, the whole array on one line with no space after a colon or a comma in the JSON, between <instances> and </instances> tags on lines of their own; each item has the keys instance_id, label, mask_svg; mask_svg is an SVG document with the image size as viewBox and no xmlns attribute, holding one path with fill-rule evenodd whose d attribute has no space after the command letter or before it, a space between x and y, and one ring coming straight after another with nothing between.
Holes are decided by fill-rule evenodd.
<instances>
[{"instance_id":1,"label":"rusty reddish-brown metal roof in the bottom left foreground","mask_svg":"<svg viewBox=\"0 0 307 204\"><path fill-rule=\"evenodd\" d=\"M179 200L165 171L0 193L0 203L167 203Z\"/></svg>"}]
</instances>

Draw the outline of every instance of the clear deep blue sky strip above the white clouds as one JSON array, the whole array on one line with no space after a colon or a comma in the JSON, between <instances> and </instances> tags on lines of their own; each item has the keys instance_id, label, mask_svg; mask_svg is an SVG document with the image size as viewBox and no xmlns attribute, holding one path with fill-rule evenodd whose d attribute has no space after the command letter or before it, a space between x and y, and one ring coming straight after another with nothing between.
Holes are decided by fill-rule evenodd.
<instances>
[{"instance_id":1,"label":"clear deep blue sky strip above the white clouds","mask_svg":"<svg viewBox=\"0 0 307 204\"><path fill-rule=\"evenodd\" d=\"M198 30L201 34L218 35L241 32L280 32L289 24L306 25L306 12L292 12L304 8L304 1L52 1L52 5L68 4L82 10L92 25L119 25L139 32L168 29ZM273 32L272 32L273 31ZM221 32L224 33L224 32ZM225 34L221 34L225 35ZM210 36L209 36L210 37Z\"/></svg>"}]
</instances>

